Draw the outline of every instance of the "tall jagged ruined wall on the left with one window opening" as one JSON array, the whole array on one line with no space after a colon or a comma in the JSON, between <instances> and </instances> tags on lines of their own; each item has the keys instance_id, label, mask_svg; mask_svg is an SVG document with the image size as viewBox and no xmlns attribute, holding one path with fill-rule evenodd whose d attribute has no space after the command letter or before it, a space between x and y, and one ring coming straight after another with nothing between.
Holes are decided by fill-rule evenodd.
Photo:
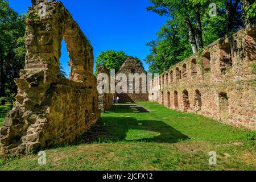
<instances>
[{"instance_id":1,"label":"tall jagged ruined wall on the left with one window opening","mask_svg":"<svg viewBox=\"0 0 256 182\"><path fill-rule=\"evenodd\" d=\"M60 76L61 41L70 80ZM0 129L0 153L27 154L69 144L100 117L93 48L61 2L34 1L26 20L26 63L13 110Z\"/></svg>"}]
</instances>

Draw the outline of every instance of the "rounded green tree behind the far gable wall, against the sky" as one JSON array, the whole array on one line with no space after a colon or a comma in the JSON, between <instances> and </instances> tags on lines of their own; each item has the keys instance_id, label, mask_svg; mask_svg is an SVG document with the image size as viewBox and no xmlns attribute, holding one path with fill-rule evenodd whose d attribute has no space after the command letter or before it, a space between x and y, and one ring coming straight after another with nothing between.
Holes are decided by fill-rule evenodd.
<instances>
[{"instance_id":1,"label":"rounded green tree behind the far gable wall, against the sky","mask_svg":"<svg viewBox=\"0 0 256 182\"><path fill-rule=\"evenodd\" d=\"M98 65L105 65L106 68L115 69L115 72L117 72L128 57L129 56L123 51L108 50L101 52L96 59L96 67ZM138 59L137 57L135 58Z\"/></svg>"}]
</instances>

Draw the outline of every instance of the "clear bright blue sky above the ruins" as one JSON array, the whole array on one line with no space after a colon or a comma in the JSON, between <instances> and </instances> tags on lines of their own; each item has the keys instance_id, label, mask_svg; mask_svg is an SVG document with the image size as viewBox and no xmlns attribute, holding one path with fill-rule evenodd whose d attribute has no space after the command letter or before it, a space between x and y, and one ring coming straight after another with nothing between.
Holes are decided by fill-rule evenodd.
<instances>
[{"instance_id":1,"label":"clear bright blue sky above the ruins","mask_svg":"<svg viewBox=\"0 0 256 182\"><path fill-rule=\"evenodd\" d=\"M31 6L31 0L9 0L18 13ZM94 59L108 49L124 51L143 59L149 54L147 42L156 39L156 32L166 18L146 10L150 0L63 0L64 6L81 27L94 48ZM60 62L69 73L68 53L61 48ZM145 69L148 66L143 63ZM68 74L67 74L68 75Z\"/></svg>"}]
</instances>

